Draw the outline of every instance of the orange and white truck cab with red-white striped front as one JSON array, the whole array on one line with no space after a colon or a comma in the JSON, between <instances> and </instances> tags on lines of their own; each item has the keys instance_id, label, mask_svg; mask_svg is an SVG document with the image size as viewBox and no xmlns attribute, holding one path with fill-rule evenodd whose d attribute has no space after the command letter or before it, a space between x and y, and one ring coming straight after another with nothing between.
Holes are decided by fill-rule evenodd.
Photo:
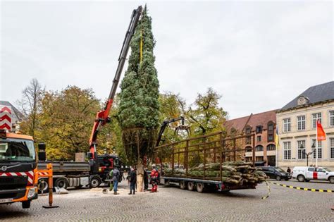
<instances>
[{"instance_id":1,"label":"orange and white truck cab with red-white striped front","mask_svg":"<svg viewBox=\"0 0 334 222\"><path fill-rule=\"evenodd\" d=\"M0 204L37 199L37 159L32 137L0 130Z\"/></svg>"}]
</instances>

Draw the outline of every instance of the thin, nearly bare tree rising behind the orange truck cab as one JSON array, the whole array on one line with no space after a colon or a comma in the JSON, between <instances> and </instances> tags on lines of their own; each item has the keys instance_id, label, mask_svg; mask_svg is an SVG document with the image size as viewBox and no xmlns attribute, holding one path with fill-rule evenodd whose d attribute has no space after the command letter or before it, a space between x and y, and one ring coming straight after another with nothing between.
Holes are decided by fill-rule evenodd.
<instances>
[{"instance_id":1,"label":"thin, nearly bare tree rising behind the orange truck cab","mask_svg":"<svg viewBox=\"0 0 334 222\"><path fill-rule=\"evenodd\" d=\"M35 137L35 132L39 126L44 91L42 85L34 78L30 81L30 85L22 91L22 99L17 101L19 109L25 117L25 121L20 124L20 130L32 137Z\"/></svg>"}]
</instances>

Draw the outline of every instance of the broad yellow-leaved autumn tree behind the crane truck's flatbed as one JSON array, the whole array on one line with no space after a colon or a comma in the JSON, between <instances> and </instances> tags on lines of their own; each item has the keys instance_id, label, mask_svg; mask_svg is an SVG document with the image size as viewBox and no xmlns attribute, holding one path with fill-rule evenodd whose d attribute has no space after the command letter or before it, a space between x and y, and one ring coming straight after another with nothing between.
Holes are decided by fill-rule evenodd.
<instances>
[{"instance_id":1,"label":"broad yellow-leaved autumn tree behind the crane truck's flatbed","mask_svg":"<svg viewBox=\"0 0 334 222\"><path fill-rule=\"evenodd\" d=\"M99 109L99 100L89 89L69 86L61 92L46 92L37 133L47 143L48 159L73 160L76 152L87 152Z\"/></svg>"}]
</instances>

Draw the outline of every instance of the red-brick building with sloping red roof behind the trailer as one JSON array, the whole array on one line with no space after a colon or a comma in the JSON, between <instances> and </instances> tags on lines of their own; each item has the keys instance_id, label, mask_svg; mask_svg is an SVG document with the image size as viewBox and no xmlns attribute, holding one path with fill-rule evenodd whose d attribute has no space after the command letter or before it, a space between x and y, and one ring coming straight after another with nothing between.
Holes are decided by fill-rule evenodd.
<instances>
[{"instance_id":1,"label":"red-brick building with sloping red roof behind the trailer","mask_svg":"<svg viewBox=\"0 0 334 222\"><path fill-rule=\"evenodd\" d=\"M252 135L255 137L255 161L264 166L276 166L276 110L251 113L249 116L226 121L229 135ZM244 148L251 148L252 137L247 137ZM246 152L246 161L252 161L252 152Z\"/></svg>"}]
</instances>

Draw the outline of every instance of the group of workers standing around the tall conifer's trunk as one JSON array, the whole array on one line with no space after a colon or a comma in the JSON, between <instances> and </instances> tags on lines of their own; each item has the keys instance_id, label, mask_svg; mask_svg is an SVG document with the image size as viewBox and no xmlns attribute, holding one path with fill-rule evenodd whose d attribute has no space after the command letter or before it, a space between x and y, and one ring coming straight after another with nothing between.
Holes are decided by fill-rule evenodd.
<instances>
[{"instance_id":1,"label":"group of workers standing around the tall conifer's trunk","mask_svg":"<svg viewBox=\"0 0 334 222\"><path fill-rule=\"evenodd\" d=\"M118 168L113 168L112 171L110 171L109 176L112 178L113 183L111 183L110 190L113 190L114 195L118 195L118 182L120 181L121 175ZM152 171L150 173L151 176L151 185L152 189L151 192L157 192L158 191L158 180L159 180L159 171L156 169L156 165L152 165ZM128 173L128 183L130 185L130 192L129 195L135 195L135 191L137 188L137 171L136 168L131 167L130 172ZM144 190L148 190L149 188L149 175L147 173L147 168L144 169Z\"/></svg>"}]
</instances>

